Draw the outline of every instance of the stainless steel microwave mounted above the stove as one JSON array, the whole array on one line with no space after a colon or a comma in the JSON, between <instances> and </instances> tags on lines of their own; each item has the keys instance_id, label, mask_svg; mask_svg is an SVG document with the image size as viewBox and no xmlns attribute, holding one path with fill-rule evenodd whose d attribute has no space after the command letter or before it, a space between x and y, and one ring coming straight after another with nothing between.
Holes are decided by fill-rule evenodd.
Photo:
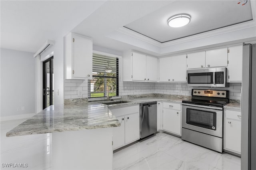
<instances>
[{"instance_id":1,"label":"stainless steel microwave mounted above the stove","mask_svg":"<svg viewBox=\"0 0 256 170\"><path fill-rule=\"evenodd\" d=\"M229 87L227 68L187 70L188 86L194 87Z\"/></svg>"}]
</instances>

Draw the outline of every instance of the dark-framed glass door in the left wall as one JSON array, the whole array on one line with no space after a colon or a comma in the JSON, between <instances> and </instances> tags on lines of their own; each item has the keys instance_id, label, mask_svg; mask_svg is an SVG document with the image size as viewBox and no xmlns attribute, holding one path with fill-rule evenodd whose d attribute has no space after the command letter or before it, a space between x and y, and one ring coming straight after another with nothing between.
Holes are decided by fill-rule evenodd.
<instances>
[{"instance_id":1,"label":"dark-framed glass door in the left wall","mask_svg":"<svg viewBox=\"0 0 256 170\"><path fill-rule=\"evenodd\" d=\"M43 109L54 104L53 56L43 62Z\"/></svg>"}]
</instances>

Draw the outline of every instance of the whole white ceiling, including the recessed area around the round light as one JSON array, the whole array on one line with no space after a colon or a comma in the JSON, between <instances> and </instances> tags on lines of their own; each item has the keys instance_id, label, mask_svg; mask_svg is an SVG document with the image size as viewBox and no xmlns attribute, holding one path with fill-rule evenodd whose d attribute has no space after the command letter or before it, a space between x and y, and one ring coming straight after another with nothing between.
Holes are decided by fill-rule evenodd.
<instances>
[{"instance_id":1,"label":"whole white ceiling, including the recessed area around the round light","mask_svg":"<svg viewBox=\"0 0 256 170\"><path fill-rule=\"evenodd\" d=\"M251 21L245 23L253 20L255 25L255 2L251 1L252 6L250 1L244 6L237 2L239 0L1 0L1 48L35 53L46 39L56 40L75 32L93 38L94 47L116 51L135 49L159 55L167 53L161 49L163 45L177 44L177 40L184 37L192 38L191 35L215 29L222 31L222 27L230 29L230 25L248 20ZM190 14L191 22L183 28L168 27L167 19L177 13Z\"/></svg>"}]
</instances>

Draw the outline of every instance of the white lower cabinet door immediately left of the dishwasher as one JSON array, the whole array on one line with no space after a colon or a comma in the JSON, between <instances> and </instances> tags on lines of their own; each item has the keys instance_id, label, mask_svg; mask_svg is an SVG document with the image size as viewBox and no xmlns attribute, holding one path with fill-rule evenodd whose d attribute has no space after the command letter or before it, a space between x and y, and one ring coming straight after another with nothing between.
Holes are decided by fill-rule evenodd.
<instances>
[{"instance_id":1,"label":"white lower cabinet door immediately left of the dishwasher","mask_svg":"<svg viewBox=\"0 0 256 170\"><path fill-rule=\"evenodd\" d=\"M125 143L140 139L140 115L134 113L124 117L125 120Z\"/></svg>"}]
</instances>

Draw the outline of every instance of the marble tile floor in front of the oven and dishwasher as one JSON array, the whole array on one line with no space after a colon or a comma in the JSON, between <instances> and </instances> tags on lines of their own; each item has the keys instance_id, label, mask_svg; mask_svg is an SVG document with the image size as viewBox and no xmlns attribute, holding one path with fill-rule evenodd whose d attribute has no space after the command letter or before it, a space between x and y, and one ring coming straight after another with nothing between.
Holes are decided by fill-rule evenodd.
<instances>
[{"instance_id":1,"label":"marble tile floor in front of the oven and dishwasher","mask_svg":"<svg viewBox=\"0 0 256 170\"><path fill-rule=\"evenodd\" d=\"M241 158L159 132L114 153L114 170L240 170Z\"/></svg>"}]
</instances>

